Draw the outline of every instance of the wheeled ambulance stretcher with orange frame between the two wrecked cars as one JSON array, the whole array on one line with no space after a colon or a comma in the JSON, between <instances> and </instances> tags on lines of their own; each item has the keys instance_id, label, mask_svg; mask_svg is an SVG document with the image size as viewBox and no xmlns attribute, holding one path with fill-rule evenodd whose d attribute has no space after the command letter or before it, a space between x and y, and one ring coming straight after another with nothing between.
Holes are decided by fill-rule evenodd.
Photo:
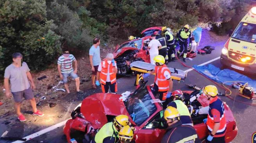
<instances>
[{"instance_id":1,"label":"wheeled ambulance stretcher with orange frame between the two wrecked cars","mask_svg":"<svg viewBox=\"0 0 256 143\"><path fill-rule=\"evenodd\" d=\"M136 73L136 81L134 83L134 86L139 85L139 83L143 83L143 75L144 73L150 73L155 69L155 65L152 65L150 63L145 63L143 61L134 61L130 64L131 70ZM183 70L179 70L176 68L169 68L171 74L172 80L185 80L187 76L187 72L184 72Z\"/></svg>"}]
</instances>

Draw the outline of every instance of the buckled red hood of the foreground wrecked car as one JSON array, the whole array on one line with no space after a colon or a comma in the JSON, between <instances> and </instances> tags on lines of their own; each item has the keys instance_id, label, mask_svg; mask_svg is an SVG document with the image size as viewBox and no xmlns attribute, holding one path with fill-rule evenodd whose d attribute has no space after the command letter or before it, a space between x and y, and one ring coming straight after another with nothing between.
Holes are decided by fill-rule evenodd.
<instances>
[{"instance_id":1,"label":"buckled red hood of the foreground wrecked car","mask_svg":"<svg viewBox=\"0 0 256 143\"><path fill-rule=\"evenodd\" d=\"M100 129L108 122L106 115L127 115L129 121L135 125L125 108L124 102L119 101L120 96L119 94L109 93L97 93L88 96L82 101L81 113L94 129Z\"/></svg>"}]
</instances>

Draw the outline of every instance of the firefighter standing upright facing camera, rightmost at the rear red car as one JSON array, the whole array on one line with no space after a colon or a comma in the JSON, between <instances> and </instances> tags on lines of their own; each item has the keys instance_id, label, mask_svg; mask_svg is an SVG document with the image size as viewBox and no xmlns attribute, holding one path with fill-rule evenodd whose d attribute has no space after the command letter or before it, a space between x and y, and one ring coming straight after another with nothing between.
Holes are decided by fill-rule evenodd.
<instances>
[{"instance_id":1,"label":"firefighter standing upright facing camera, rightmost at the rear red car","mask_svg":"<svg viewBox=\"0 0 256 143\"><path fill-rule=\"evenodd\" d=\"M191 34L191 31L189 30L188 24L186 24L183 29L179 30L176 36L176 40L179 40L179 46L180 46L180 49L177 52L177 57L179 58L179 54L181 54L181 52L184 50L183 52L184 62L187 62L186 58L187 58L187 52L188 52L188 38L189 38L189 46L191 46L192 34Z\"/></svg>"}]
</instances>

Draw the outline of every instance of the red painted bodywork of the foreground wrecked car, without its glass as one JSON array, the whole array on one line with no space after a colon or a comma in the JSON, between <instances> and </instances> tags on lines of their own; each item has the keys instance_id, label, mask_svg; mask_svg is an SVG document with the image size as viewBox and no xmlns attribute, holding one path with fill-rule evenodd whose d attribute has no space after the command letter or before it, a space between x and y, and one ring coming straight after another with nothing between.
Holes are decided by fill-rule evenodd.
<instances>
[{"instance_id":1,"label":"red painted bodywork of the foreground wrecked car, without its glass","mask_svg":"<svg viewBox=\"0 0 256 143\"><path fill-rule=\"evenodd\" d=\"M151 92L150 86L147 87L149 94L152 99L156 99ZM190 94L192 91L183 91ZM156 112L154 112L147 120L145 120L140 126L132 121L129 113L127 112L124 102L119 101L118 94L107 94L107 93L96 93L91 96L88 96L82 101L81 113L84 115L85 119L70 119L64 126L64 134L67 136L67 140L70 143L70 129L76 129L79 131L84 131L86 133L90 132L90 127L93 129L100 129L107 123L106 115L128 115L129 120L136 128L134 131L134 140L136 143L160 143L163 135L165 134L165 129L145 129L144 127L150 122L151 119L163 110L160 103L154 103L156 105ZM205 97L199 97L197 100L201 103L202 106L208 106L209 100ZM237 134L236 122L233 117L233 114L229 107L224 103L225 106L225 115L227 122L227 131L226 131L226 142L232 141ZM86 127L87 126L87 127ZM203 122L200 124L194 125L194 128L201 140L204 140L208 136L208 129L206 124Z\"/></svg>"}]
</instances>

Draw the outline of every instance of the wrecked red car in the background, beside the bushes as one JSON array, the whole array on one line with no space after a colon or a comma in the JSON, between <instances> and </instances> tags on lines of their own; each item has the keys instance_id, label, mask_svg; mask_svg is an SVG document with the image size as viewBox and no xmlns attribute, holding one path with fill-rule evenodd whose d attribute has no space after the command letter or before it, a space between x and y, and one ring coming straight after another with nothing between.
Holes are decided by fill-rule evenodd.
<instances>
[{"instance_id":1,"label":"wrecked red car in the background, beside the bushes","mask_svg":"<svg viewBox=\"0 0 256 143\"><path fill-rule=\"evenodd\" d=\"M159 31L159 34L161 34L161 27L147 28L141 32L143 38L131 40L122 45L116 45L113 54L118 68L118 75L131 75L129 64L134 61L150 63L149 51L146 47L154 31Z\"/></svg>"}]
</instances>

